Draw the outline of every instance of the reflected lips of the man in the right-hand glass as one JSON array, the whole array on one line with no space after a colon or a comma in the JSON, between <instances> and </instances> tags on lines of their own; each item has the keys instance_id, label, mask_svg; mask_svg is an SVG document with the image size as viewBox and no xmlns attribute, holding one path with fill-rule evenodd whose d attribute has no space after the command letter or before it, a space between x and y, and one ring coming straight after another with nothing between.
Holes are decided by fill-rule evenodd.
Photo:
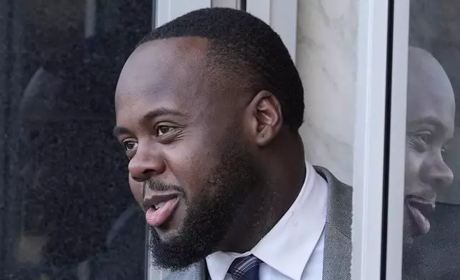
<instances>
[{"instance_id":1,"label":"reflected lips of the man in the right-hand glass","mask_svg":"<svg viewBox=\"0 0 460 280\"><path fill-rule=\"evenodd\" d=\"M406 196L406 204L414 226L418 231L416 234L427 234L430 229L427 216L434 211L434 199L428 200L420 196Z\"/></svg>"}]
</instances>

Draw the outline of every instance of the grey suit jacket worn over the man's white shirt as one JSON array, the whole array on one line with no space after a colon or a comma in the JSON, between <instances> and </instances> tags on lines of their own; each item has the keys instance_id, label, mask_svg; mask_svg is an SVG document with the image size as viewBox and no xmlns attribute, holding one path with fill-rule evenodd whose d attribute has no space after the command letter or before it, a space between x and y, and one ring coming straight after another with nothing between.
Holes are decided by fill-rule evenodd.
<instances>
[{"instance_id":1,"label":"grey suit jacket worn over the man's white shirt","mask_svg":"<svg viewBox=\"0 0 460 280\"><path fill-rule=\"evenodd\" d=\"M324 229L324 265L322 280L351 279L352 189L341 183L327 169L314 166L329 185L329 201ZM209 280L206 261L183 271L163 273L164 280Z\"/></svg>"}]
</instances>

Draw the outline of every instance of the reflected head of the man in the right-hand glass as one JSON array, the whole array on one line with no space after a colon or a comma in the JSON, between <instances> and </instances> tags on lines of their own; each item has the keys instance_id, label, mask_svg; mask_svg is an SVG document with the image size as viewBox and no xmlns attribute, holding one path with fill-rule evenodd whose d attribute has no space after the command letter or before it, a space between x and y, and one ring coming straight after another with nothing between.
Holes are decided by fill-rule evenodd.
<instances>
[{"instance_id":1,"label":"reflected head of the man in the right-hand glass","mask_svg":"<svg viewBox=\"0 0 460 280\"><path fill-rule=\"evenodd\" d=\"M429 231L436 189L453 175L443 153L454 134L454 91L441 64L422 49L409 48L404 230L406 240Z\"/></svg>"}]
</instances>

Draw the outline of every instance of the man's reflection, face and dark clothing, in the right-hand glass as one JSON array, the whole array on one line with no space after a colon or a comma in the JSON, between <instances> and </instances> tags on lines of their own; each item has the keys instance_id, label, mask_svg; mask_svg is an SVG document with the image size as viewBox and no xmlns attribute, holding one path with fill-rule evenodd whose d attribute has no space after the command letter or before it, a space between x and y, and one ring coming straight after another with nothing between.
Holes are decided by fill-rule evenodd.
<instances>
[{"instance_id":1,"label":"man's reflection, face and dark clothing, in the right-hand glass","mask_svg":"<svg viewBox=\"0 0 460 280\"><path fill-rule=\"evenodd\" d=\"M441 64L427 51L409 47L408 63L403 274L404 279L441 279L441 269L434 266L456 267L457 262L456 248L439 244L440 239L449 240L440 232L454 220L446 216L445 206L433 213L436 191L453 180L443 154L454 136L454 91ZM436 229L431 229L434 222ZM444 244L451 254L441 249ZM456 279L456 271L446 279Z\"/></svg>"}]
</instances>

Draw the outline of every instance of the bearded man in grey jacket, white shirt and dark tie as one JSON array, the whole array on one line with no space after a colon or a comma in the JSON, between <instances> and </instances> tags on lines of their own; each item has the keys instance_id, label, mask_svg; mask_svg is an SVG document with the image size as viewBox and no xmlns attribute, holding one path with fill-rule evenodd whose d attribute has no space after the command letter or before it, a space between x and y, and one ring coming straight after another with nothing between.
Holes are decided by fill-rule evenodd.
<instances>
[{"instance_id":1,"label":"bearded man in grey jacket, white shirt and dark tie","mask_svg":"<svg viewBox=\"0 0 460 280\"><path fill-rule=\"evenodd\" d=\"M234 9L146 36L114 134L168 279L350 279L351 188L304 160L301 79L279 36Z\"/></svg>"}]
</instances>

